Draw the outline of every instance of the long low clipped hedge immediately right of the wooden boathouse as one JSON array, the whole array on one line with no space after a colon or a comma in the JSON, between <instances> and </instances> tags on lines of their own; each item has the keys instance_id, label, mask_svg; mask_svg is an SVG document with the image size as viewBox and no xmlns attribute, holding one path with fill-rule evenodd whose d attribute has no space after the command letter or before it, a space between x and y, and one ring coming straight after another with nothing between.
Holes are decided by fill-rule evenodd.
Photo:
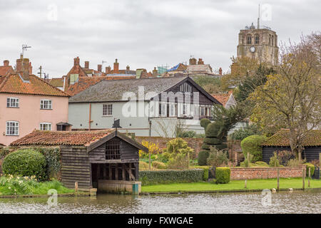
<instances>
[{"instance_id":1,"label":"long low clipped hedge immediately right of the wooden boathouse","mask_svg":"<svg viewBox=\"0 0 321 228\"><path fill-rule=\"evenodd\" d=\"M141 185L200 182L204 170L142 170L139 171Z\"/></svg>"}]
</instances>

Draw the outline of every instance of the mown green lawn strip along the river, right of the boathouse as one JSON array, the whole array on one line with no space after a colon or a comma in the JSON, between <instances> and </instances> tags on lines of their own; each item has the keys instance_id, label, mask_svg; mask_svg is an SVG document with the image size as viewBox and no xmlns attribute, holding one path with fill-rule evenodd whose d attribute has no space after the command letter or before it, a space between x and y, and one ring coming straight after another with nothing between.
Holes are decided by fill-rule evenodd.
<instances>
[{"instance_id":1,"label":"mown green lawn strip along the river, right of the boathouse","mask_svg":"<svg viewBox=\"0 0 321 228\"><path fill-rule=\"evenodd\" d=\"M277 187L276 179L248 180L247 188L244 180L231 180L224 185L215 185L209 182L176 183L168 185L142 186L142 192L207 192L207 191L233 191L233 190L263 190ZM280 189L302 188L302 178L280 178ZM305 188L307 180L305 180ZM321 188L321 180L310 180L310 188Z\"/></svg>"}]
</instances>

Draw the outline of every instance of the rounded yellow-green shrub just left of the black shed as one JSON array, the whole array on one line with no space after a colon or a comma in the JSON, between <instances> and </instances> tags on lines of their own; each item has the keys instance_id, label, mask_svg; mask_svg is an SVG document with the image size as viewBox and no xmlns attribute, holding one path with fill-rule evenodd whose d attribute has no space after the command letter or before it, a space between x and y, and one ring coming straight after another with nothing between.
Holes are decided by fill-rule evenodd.
<instances>
[{"instance_id":1,"label":"rounded yellow-green shrub just left of the black shed","mask_svg":"<svg viewBox=\"0 0 321 228\"><path fill-rule=\"evenodd\" d=\"M241 142L243 154L246 156L248 152L253 155L253 162L262 160L261 144L266 137L263 135L250 135Z\"/></svg>"}]
</instances>

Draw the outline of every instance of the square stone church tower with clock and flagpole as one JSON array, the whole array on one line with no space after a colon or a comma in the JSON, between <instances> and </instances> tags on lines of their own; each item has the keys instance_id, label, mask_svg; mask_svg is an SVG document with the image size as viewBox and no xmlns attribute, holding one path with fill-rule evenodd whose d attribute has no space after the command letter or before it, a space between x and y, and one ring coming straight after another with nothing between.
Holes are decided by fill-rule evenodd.
<instances>
[{"instance_id":1,"label":"square stone church tower with clock and flagpole","mask_svg":"<svg viewBox=\"0 0 321 228\"><path fill-rule=\"evenodd\" d=\"M260 12L260 9L259 9ZM267 26L260 26L260 14L258 26L245 26L238 34L238 58L247 56L256 58L260 63L277 64L279 48L277 46L277 34Z\"/></svg>"}]
</instances>

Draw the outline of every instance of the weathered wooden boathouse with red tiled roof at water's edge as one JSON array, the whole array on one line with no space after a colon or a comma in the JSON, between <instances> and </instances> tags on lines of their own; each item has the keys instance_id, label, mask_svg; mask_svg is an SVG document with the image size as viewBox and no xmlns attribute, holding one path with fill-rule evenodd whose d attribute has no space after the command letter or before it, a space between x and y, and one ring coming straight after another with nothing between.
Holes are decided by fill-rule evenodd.
<instances>
[{"instance_id":1,"label":"weathered wooden boathouse with red tiled roof at water's edge","mask_svg":"<svg viewBox=\"0 0 321 228\"><path fill-rule=\"evenodd\" d=\"M137 192L139 150L148 148L115 129L94 131L42 131L11 143L12 146L58 146L61 152L61 182L79 190ZM135 185L135 187L133 187Z\"/></svg>"}]
</instances>

